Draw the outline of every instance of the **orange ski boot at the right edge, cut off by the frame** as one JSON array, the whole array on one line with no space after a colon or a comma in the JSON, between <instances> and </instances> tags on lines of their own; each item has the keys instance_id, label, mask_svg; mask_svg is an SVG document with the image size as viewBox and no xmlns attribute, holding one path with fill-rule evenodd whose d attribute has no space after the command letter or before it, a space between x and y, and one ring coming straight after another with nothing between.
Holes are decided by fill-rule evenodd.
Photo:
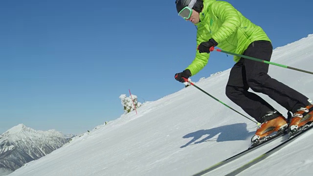
<instances>
[{"instance_id":1,"label":"orange ski boot at the right edge, cut off by the frame","mask_svg":"<svg viewBox=\"0 0 313 176\"><path fill-rule=\"evenodd\" d=\"M305 108L300 108L291 117L289 124L290 133L296 132L299 128L313 122L313 105L310 104Z\"/></svg>"}]
</instances>

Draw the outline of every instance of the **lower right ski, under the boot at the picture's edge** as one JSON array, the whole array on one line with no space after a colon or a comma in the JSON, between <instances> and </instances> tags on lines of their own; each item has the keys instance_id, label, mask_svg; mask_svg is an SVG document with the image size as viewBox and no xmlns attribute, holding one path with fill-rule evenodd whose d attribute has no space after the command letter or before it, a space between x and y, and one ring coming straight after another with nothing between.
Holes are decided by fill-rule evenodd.
<instances>
[{"instance_id":1,"label":"lower right ski, under the boot at the picture's edge","mask_svg":"<svg viewBox=\"0 0 313 176\"><path fill-rule=\"evenodd\" d=\"M281 144L279 144L278 146L272 148L268 152L259 155L258 157L254 158L250 162L246 163L245 165L239 167L238 169L232 171L231 173L229 173L225 176L235 176L235 175L241 173L242 171L246 170L250 166L262 161L263 159L267 158L269 155L277 152L278 150L282 149L286 145L290 144L295 138L299 137L300 135L304 134L305 132L308 132L312 128L313 128L313 124L306 125L304 128L300 129L298 132L292 133L292 135L286 141L284 141Z\"/></svg>"}]
</instances>

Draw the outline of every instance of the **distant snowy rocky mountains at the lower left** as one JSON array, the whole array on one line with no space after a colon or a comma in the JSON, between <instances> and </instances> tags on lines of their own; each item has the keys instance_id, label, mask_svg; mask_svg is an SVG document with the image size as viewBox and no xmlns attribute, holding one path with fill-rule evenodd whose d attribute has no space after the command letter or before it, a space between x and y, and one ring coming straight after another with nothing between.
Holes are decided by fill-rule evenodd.
<instances>
[{"instance_id":1,"label":"distant snowy rocky mountains at the lower left","mask_svg":"<svg viewBox=\"0 0 313 176\"><path fill-rule=\"evenodd\" d=\"M0 135L0 175L51 153L68 140L61 132L36 131L23 124L9 129Z\"/></svg>"}]
</instances>

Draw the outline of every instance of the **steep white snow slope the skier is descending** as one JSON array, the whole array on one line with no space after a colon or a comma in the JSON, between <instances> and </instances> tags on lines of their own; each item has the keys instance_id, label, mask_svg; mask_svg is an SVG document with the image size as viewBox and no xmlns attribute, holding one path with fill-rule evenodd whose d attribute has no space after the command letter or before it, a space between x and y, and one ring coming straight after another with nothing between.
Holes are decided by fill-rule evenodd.
<instances>
[{"instance_id":1,"label":"steep white snow slope the skier is descending","mask_svg":"<svg viewBox=\"0 0 313 176\"><path fill-rule=\"evenodd\" d=\"M313 71L312 48L313 35L309 35L276 48L271 61ZM246 114L224 94L229 71L195 84ZM269 66L269 75L313 98L313 75L278 66ZM259 95L286 115L287 110L268 96ZM257 128L192 86L144 103L137 111L138 115L133 111L75 137L10 176L189 176L245 150ZM304 134L239 175L312 175L312 136L313 131ZM210 174L223 176L279 142L276 140Z\"/></svg>"}]
</instances>

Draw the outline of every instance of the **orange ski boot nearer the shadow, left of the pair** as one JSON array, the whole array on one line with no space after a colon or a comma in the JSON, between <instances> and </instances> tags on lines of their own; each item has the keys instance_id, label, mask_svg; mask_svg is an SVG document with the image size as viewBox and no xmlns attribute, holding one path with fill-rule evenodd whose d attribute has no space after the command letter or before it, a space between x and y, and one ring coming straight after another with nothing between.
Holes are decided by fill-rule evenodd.
<instances>
[{"instance_id":1,"label":"orange ski boot nearer the shadow, left of the pair","mask_svg":"<svg viewBox=\"0 0 313 176\"><path fill-rule=\"evenodd\" d=\"M279 112L269 112L262 118L263 123L258 127L255 135L251 138L251 143L258 143L274 133L284 132L288 128L286 118Z\"/></svg>"}]
</instances>

